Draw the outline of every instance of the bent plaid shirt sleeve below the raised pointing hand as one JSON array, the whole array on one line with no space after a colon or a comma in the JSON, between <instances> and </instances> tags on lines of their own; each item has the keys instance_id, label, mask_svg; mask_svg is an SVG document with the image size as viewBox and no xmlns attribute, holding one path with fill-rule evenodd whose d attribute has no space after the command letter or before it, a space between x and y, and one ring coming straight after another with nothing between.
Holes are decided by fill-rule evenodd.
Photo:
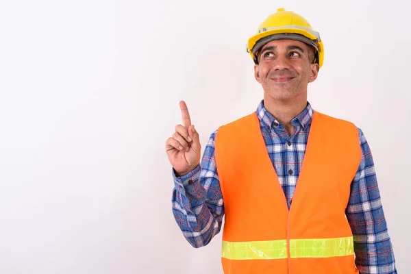
<instances>
[{"instance_id":1,"label":"bent plaid shirt sleeve below the raised pointing hand","mask_svg":"<svg viewBox=\"0 0 411 274\"><path fill-rule=\"evenodd\" d=\"M184 237L193 247L203 247L220 232L224 216L223 195L217 174L214 143L210 136L201 166L177 177L173 170L173 214Z\"/></svg>"}]
</instances>

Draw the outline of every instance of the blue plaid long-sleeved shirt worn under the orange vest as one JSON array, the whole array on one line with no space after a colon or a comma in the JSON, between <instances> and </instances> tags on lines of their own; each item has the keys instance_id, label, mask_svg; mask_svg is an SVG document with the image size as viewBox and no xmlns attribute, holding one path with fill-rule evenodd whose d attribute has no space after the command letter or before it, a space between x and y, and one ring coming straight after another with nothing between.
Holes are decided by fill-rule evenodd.
<instances>
[{"instance_id":1,"label":"blue plaid long-sleeved shirt worn under the orange vest","mask_svg":"<svg viewBox=\"0 0 411 274\"><path fill-rule=\"evenodd\" d=\"M267 151L290 207L314 111L308 103L306 109L292 119L291 124L295 126L292 136L288 136L284 126L264 108L264 101L260 102L256 113ZM215 164L215 135L216 132L211 134L201 164L194 171L183 177L176 177L173 171L173 214L184 237L193 247L207 245L220 232L224 216L223 196ZM397 273L373 157L361 129L358 129L358 135L362 159L351 183L346 210L353 232L356 266L360 273Z\"/></svg>"}]
</instances>

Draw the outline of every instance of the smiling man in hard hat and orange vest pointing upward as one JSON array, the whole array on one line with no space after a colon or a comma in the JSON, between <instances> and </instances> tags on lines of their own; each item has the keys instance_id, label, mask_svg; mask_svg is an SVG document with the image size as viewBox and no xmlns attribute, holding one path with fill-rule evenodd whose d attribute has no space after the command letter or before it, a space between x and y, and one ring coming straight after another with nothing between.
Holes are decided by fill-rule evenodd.
<instances>
[{"instance_id":1,"label":"smiling man in hard hat and orange vest pointing upward","mask_svg":"<svg viewBox=\"0 0 411 274\"><path fill-rule=\"evenodd\" d=\"M247 51L264 90L257 111L219 127L201 165L184 101L166 141L186 239L207 245L225 216L225 273L397 273L364 134L307 101L323 64L319 33L278 9Z\"/></svg>"}]
</instances>

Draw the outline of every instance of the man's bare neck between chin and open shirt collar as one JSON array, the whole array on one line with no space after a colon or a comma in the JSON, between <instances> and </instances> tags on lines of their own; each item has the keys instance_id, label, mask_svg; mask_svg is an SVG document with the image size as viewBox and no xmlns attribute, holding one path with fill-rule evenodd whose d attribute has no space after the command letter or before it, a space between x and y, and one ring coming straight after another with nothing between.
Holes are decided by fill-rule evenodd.
<instances>
[{"instance_id":1,"label":"man's bare neck between chin and open shirt collar","mask_svg":"<svg viewBox=\"0 0 411 274\"><path fill-rule=\"evenodd\" d=\"M291 136L295 127L291 125L291 120L300 114L307 107L307 93L303 92L301 95L298 95L287 101L282 101L274 99L273 97L266 95L264 92L264 108L271 115L284 125L286 131Z\"/></svg>"}]
</instances>

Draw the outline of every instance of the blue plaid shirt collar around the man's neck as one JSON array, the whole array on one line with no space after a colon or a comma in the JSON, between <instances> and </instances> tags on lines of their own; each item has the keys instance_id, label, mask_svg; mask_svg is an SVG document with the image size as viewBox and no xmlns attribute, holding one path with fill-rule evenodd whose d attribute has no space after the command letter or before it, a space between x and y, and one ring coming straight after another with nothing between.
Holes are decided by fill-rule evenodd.
<instances>
[{"instance_id":1,"label":"blue plaid shirt collar around the man's neck","mask_svg":"<svg viewBox=\"0 0 411 274\"><path fill-rule=\"evenodd\" d=\"M273 123L279 123L277 119L273 115L271 115L266 108L264 108L264 100L260 101L260 104L258 105L257 108L257 116L258 119L260 119L260 122L264 126L269 126L271 127ZM297 116L295 116L294 119L291 120L291 124L295 125L295 123L299 123L303 129L306 129L311 124L312 121L312 115L314 114L314 110L311 107L310 102L307 102L306 108L302 112L300 112Z\"/></svg>"}]
</instances>

